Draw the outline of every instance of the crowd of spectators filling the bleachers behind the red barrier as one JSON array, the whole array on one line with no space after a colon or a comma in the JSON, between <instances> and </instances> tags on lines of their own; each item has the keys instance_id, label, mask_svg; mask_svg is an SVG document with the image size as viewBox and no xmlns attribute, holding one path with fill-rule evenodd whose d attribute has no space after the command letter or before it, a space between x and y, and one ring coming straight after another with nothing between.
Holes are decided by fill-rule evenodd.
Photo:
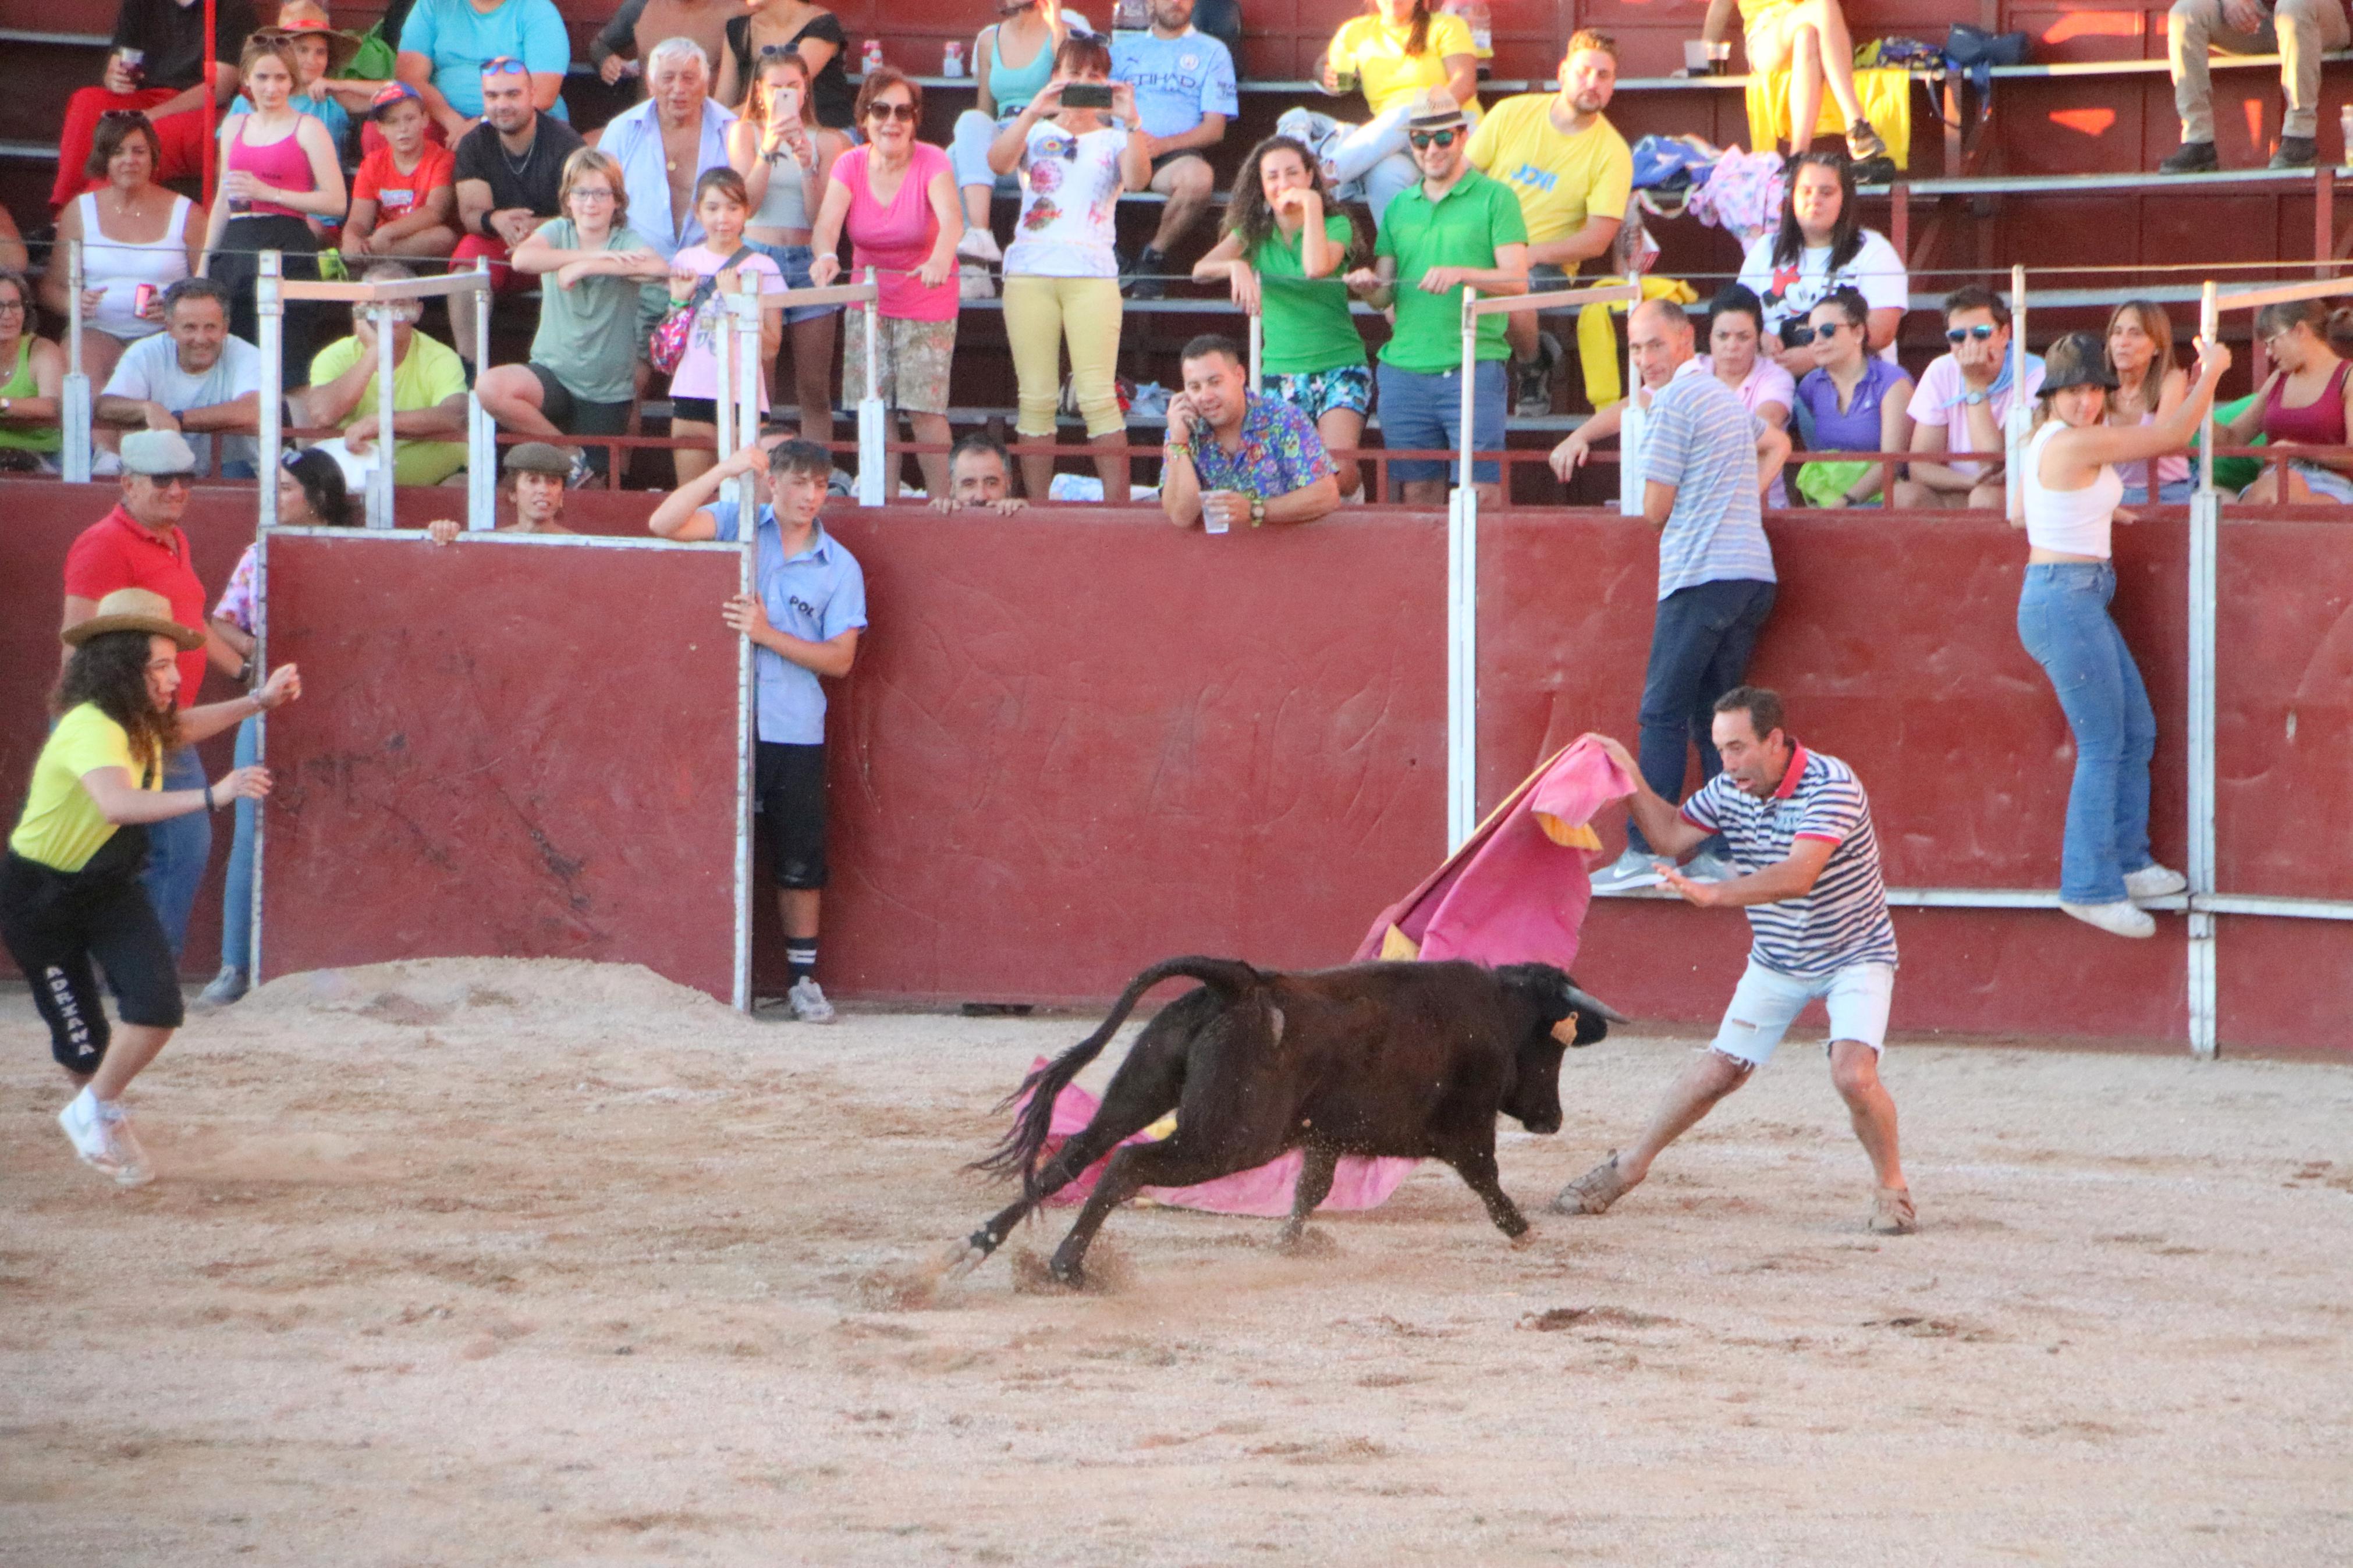
<instances>
[{"instance_id":1,"label":"crowd of spectators filling the bleachers behind the red barrier","mask_svg":"<svg viewBox=\"0 0 2353 1568\"><path fill-rule=\"evenodd\" d=\"M2202 19L2200 7L2219 9ZM2313 21L2311 7L2282 0L2275 26L2264 19L2271 31L2249 31L2242 9L2181 0L2177 33L2224 49L2278 42L2289 99L2280 155L2308 162L2304 132L2318 110L2304 78L2341 42L2329 28L2344 19ZM1859 96L1838 0L1744 0L1737 12L1748 68L1786 94L1788 160L1746 190L1760 216L1777 205L1779 221L1748 247L1739 282L1706 301L1699 364L1802 451L1833 454L1791 465L1767 503L1998 505L2002 421L2040 374L2028 357L2024 386L2012 386L2007 303L1984 289L1953 294L1951 353L1918 378L1897 364L1911 280L1857 212L1859 179L1885 179L1889 148ZM202 26L172 0L122 0L106 75L66 115L40 287L0 275L0 313L12 317L0 320L0 355L14 355L0 357L9 376L0 461L45 465L59 451L56 324L73 303L73 242L99 473L127 428L184 428L216 473L254 470L256 270L261 252L278 252L287 277L487 266L504 327L487 362L475 362L485 355L471 294L449 296L447 341L421 320L393 334L402 482L459 473L468 386L513 435L574 437L576 482L609 465L598 437L640 435L656 400L675 482L701 475L722 456L718 296L758 277L760 353L776 402L788 395L795 409L786 423L824 444L835 407L880 395L904 435L936 449L918 458L934 498L953 487L944 449L969 301L1002 294L1014 433L1052 442L1059 418L1075 414L1101 494L1125 496L1122 317L1186 275L1224 284L1264 320L1261 395L1304 416L1313 463L1341 498L1358 498L1367 487L1353 454L1369 423L1391 451L1459 440L1464 284L1525 294L1567 287L1588 263L1617 275L1642 266L1633 153L1607 115L1617 47L1602 33L1567 40L1555 92L1482 101L1480 45L1464 14L1367 0L1315 61L1327 101L1287 108L1275 136L1238 150L1228 148L1235 7L1214 0L1212 19L1195 16L1195 0L1122 0L1118 21L1115 33L1094 31L1059 0L1000 9L972 42L974 108L958 115L948 146L932 146L920 139L922 85L875 61L852 78L849 38L812 0L628 0L595 35L591 61L605 82L642 80L645 99L588 134L569 125L562 99L569 40L553 0L412 0L367 40L339 33L318 0L282 0L273 26L259 26L245 0L224 0L212 49L214 200L198 212L174 186L205 165ZM1692 40L1694 71L1720 68L1732 24L1732 0L1715 0ZM2193 71L2179 38L2184 148L2169 167L2198 158L2205 113L2202 49ZM1360 115L1348 118L1355 103ZM1842 146L1817 150L1831 127ZM1732 176L1722 183L1725 205L1741 200ZM1158 221L1122 254L1118 200L1146 190L1165 197ZM1000 197L1019 200L1009 237L995 226ZM793 301L868 268L880 282L875 388L866 310ZM1652 296L1673 289L1682 284L1645 282ZM35 306L52 336L38 331ZM1367 306L1388 317L1386 341L1379 329L1367 339ZM534 317L518 357L511 346ZM1586 322L1579 329L1588 390L1617 374L1609 317L1598 324L1598 346ZM339 327L339 313L287 303L280 371L289 421L341 428L336 451L358 470L379 348L365 322L348 336ZM2238 435L2278 425L2275 440L2344 437L2341 376L2329 369L2339 360L2325 329L2308 336L2311 355L2299 357L2304 339L2292 339ZM2115 418L2158 418L2184 383L2162 310L2120 308L2108 339L2122 381ZM1600 376L1595 355L1607 362ZM1537 313L1520 310L1482 320L1475 357L1471 435L1494 451L1506 414L1551 414L1569 355ZM1184 364L1191 378L1193 357ZM1640 386L1626 402L1598 395L1598 414L1558 447L1553 468L1572 475L1617 435L1633 470L1645 400ZM1179 454L1188 428L1219 423L1172 418ZM1838 461L1842 451L1915 456L1889 496L1887 465ZM1042 451L1021 456L1033 498L1047 494L1052 468ZM2337 470L2306 468L2289 480L2292 496L2334 494ZM1395 494L1412 503L1433 501L1445 473L1435 458L1388 463ZM1494 484L1497 465L1482 463L1478 480ZM2169 458L2160 494L2184 482L2186 465ZM899 484L892 463L887 494Z\"/></svg>"}]
</instances>

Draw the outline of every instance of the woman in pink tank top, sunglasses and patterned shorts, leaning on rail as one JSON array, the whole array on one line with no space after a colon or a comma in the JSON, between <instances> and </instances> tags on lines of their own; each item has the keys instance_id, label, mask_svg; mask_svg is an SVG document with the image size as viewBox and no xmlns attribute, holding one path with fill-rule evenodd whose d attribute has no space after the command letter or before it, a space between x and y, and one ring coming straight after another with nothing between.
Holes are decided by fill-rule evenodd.
<instances>
[{"instance_id":1,"label":"woman in pink tank top, sunglasses and patterned shorts, leaning on rail","mask_svg":"<svg viewBox=\"0 0 2353 1568\"><path fill-rule=\"evenodd\" d=\"M922 87L889 66L866 73L859 87L859 125L866 146L849 148L833 165L833 183L816 212L809 277L819 289L840 277L842 230L849 230L849 266L856 282L875 268L880 299L878 388L885 404L906 411L915 440L948 444L948 364L955 357L955 244L965 237L965 209L955 195L948 155L915 141ZM842 402L866 397L866 310L849 306L842 334ZM948 494L948 454L915 456L922 489ZM899 494L899 463L889 465L885 494Z\"/></svg>"}]
</instances>

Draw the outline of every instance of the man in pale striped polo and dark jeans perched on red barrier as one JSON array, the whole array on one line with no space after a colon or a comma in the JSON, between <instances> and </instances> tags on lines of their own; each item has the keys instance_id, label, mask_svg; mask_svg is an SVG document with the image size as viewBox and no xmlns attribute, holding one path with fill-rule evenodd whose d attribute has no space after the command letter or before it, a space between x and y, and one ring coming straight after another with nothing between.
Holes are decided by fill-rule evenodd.
<instances>
[{"instance_id":1,"label":"man in pale striped polo and dark jeans perched on red barrier","mask_svg":"<svg viewBox=\"0 0 2353 1568\"><path fill-rule=\"evenodd\" d=\"M1772 548L1758 496L1788 458L1788 437L1751 414L1739 393L1692 355L1692 317L1647 299L1626 317L1626 346L1657 400L1642 423L1642 517L1659 529L1659 618L1642 677L1642 778L1682 792L1699 745L1699 778L1720 766L1708 741L1708 703L1739 686L1772 614ZM1713 846L1708 846L1713 849ZM1654 844L1626 827L1626 853L1593 879L1595 893L1649 884ZM1732 867L1715 853L1689 875L1715 882Z\"/></svg>"}]
</instances>

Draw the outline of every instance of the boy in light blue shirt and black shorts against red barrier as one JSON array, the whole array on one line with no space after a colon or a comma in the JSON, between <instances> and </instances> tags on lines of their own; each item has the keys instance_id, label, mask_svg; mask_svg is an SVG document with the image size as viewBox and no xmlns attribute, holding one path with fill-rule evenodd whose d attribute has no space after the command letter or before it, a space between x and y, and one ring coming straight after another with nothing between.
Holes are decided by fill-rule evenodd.
<instances>
[{"instance_id":1,"label":"boy in light blue shirt and black shorts against red barrier","mask_svg":"<svg viewBox=\"0 0 2353 1568\"><path fill-rule=\"evenodd\" d=\"M751 637L760 729L755 799L769 830L788 1001L802 1023L833 1023L816 985L816 905L826 886L826 689L840 679L866 628L866 574L816 515L826 505L833 456L814 442L751 444L671 491L647 527L661 538L739 543L746 534L720 487L767 470L769 505L753 515L758 592L729 599L720 618Z\"/></svg>"}]
</instances>

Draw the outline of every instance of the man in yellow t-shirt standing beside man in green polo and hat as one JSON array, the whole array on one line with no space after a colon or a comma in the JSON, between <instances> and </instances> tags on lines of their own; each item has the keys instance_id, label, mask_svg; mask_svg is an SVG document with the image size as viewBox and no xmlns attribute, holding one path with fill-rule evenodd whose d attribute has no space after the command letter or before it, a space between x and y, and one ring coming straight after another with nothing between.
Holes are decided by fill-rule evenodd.
<instances>
[{"instance_id":1,"label":"man in yellow t-shirt standing beside man in green polo and hat","mask_svg":"<svg viewBox=\"0 0 2353 1568\"><path fill-rule=\"evenodd\" d=\"M1560 56L1560 92L1497 103L1471 134L1471 167L1504 181L1527 219L1527 289L1567 287L1579 263L1607 256L1633 195L1633 153L1602 118L1617 89L1617 40L1581 31ZM1534 310L1504 317L1520 364L1515 411L1553 411L1560 343L1537 331Z\"/></svg>"}]
</instances>

